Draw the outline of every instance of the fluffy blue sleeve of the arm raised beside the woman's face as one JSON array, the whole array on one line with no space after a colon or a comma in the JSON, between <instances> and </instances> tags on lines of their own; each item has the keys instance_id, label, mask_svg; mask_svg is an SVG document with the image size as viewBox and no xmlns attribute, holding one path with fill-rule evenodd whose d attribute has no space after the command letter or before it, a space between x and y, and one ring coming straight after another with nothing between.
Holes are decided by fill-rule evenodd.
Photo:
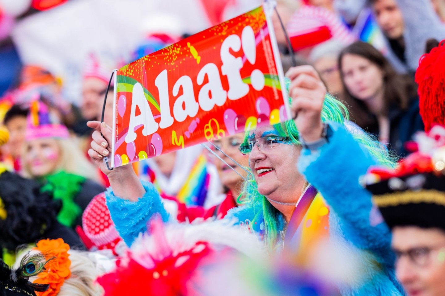
<instances>
[{"instance_id":1,"label":"fluffy blue sleeve of the arm raised beside the woman's face","mask_svg":"<svg viewBox=\"0 0 445 296\"><path fill-rule=\"evenodd\" d=\"M388 226L372 205L371 193L359 184L360 176L376 161L344 126L329 124L334 131L329 142L316 151L303 149L299 170L337 214L348 241L376 253L384 261L392 260Z\"/></svg>"}]
</instances>

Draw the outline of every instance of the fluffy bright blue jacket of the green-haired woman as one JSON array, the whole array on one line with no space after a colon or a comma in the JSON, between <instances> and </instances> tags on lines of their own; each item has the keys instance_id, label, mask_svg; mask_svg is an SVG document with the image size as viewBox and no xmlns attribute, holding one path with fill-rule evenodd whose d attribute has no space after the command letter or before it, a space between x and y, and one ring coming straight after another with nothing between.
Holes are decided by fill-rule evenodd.
<instances>
[{"instance_id":1,"label":"fluffy bright blue jacket of the green-haired woman","mask_svg":"<svg viewBox=\"0 0 445 296\"><path fill-rule=\"evenodd\" d=\"M372 206L371 194L358 182L376 161L344 126L334 122L330 125L334 132L329 143L317 151L303 149L298 167L330 206L331 239L348 252L348 257L359 258L360 275L340 284L340 292L348 296L404 295L395 278L391 233ZM127 245L146 231L146 223L155 213L160 213L164 221L169 219L156 189L150 183L143 182L142 185L147 193L137 202L120 199L111 190L106 194L111 217ZM253 209L245 206L231 209L226 219L253 220L254 215ZM282 230L284 219L281 216L277 219L279 230ZM260 225L252 226L254 230L260 230Z\"/></svg>"}]
</instances>

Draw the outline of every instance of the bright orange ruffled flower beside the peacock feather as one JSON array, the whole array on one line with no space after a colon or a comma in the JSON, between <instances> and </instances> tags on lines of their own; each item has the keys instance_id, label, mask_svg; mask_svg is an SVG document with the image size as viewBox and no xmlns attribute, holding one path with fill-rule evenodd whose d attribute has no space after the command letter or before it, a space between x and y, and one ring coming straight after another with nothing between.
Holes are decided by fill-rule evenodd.
<instances>
[{"instance_id":1,"label":"bright orange ruffled flower beside the peacock feather","mask_svg":"<svg viewBox=\"0 0 445 296\"><path fill-rule=\"evenodd\" d=\"M63 239L57 240L41 240L37 243L35 250L44 254L50 260L46 266L47 270L38 274L38 279L34 280L35 284L49 284L48 290L44 292L36 292L38 296L56 296L66 279L71 276L71 260L69 260L69 245L65 244Z\"/></svg>"}]
</instances>

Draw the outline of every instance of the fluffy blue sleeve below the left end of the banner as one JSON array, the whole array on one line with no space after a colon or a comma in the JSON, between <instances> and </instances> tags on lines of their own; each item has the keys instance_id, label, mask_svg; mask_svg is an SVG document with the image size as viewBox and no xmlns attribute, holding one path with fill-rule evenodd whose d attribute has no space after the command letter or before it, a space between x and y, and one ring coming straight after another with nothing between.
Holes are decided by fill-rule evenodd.
<instances>
[{"instance_id":1,"label":"fluffy blue sleeve below the left end of the banner","mask_svg":"<svg viewBox=\"0 0 445 296\"><path fill-rule=\"evenodd\" d=\"M135 202L116 197L111 187L105 192L111 219L128 246L131 246L139 233L147 230L147 222L154 214L160 214L164 222L169 219L158 190L150 182L141 183L146 193Z\"/></svg>"}]
</instances>

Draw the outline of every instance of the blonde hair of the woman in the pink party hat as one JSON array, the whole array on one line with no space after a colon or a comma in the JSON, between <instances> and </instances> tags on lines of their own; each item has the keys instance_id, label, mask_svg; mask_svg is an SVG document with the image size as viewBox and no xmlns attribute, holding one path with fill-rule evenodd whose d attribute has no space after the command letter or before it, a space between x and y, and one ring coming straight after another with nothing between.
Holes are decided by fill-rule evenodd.
<instances>
[{"instance_id":1,"label":"blonde hair of the woman in the pink party hat","mask_svg":"<svg viewBox=\"0 0 445 296\"><path fill-rule=\"evenodd\" d=\"M59 146L61 155L58 160L57 168L54 172L51 172L52 174L57 173L58 171L64 171L65 173L74 174L94 181L99 180L96 167L89 162L72 138L54 138L54 140L56 140L57 145ZM22 151L22 159L24 159L23 157L26 153L25 143ZM26 162L23 162L23 175L28 178L35 177L31 174L31 170Z\"/></svg>"}]
</instances>

